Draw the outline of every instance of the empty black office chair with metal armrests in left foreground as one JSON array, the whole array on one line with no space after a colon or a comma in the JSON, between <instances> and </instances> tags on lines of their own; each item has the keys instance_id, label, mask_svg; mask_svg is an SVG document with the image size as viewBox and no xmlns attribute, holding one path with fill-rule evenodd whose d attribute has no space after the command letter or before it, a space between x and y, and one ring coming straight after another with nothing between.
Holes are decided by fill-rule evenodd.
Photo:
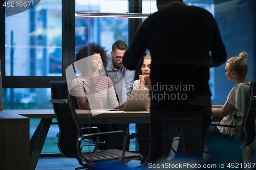
<instances>
[{"instance_id":1,"label":"empty black office chair with metal armrests in left foreground","mask_svg":"<svg viewBox=\"0 0 256 170\"><path fill-rule=\"evenodd\" d=\"M79 164L85 168L90 168L93 165L100 163L143 159L143 156L140 154L124 151L127 137L127 133L124 131L82 134L81 131L83 129L97 129L97 127L80 127L73 104L73 98L68 92L67 81L50 81L49 85L52 91L52 99L50 99L50 102L53 104L53 109L60 129L58 148L62 155L70 158L76 158ZM117 149L97 151L99 140L98 136L111 133L124 134L123 151ZM81 152L80 145L83 139L92 136L97 136L94 151Z\"/></svg>"}]
</instances>

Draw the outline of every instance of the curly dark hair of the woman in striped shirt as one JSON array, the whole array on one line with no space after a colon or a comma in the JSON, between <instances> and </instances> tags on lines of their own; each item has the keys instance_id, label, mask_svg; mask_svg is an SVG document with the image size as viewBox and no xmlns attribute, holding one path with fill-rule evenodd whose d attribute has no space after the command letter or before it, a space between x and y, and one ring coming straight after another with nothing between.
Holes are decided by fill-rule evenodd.
<instances>
[{"instance_id":1,"label":"curly dark hair of the woman in striped shirt","mask_svg":"<svg viewBox=\"0 0 256 170\"><path fill-rule=\"evenodd\" d=\"M95 43L95 42L88 42L88 45L82 47L78 53L76 54L76 57L75 57L75 61L76 61L76 66L78 68L79 71L81 71L81 74L84 75L84 68L90 68L90 63L84 63L84 62L77 62L78 60L81 60L83 58L86 58L88 56L91 56L93 54L100 54L100 57L102 59L102 63L103 63L103 66L104 68L106 68L106 66L108 65L108 56L106 56L106 50L105 50L105 47L101 47L98 43ZM88 55L88 53L90 55Z\"/></svg>"}]
</instances>

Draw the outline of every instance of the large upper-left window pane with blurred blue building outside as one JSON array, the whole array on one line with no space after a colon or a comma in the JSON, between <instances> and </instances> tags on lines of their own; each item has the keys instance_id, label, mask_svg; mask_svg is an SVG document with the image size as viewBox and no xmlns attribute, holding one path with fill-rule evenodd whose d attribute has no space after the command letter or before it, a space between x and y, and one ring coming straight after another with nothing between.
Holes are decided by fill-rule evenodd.
<instances>
[{"instance_id":1,"label":"large upper-left window pane with blurred blue building outside","mask_svg":"<svg viewBox=\"0 0 256 170\"><path fill-rule=\"evenodd\" d=\"M6 16L6 76L62 76L61 1Z\"/></svg>"}]
</instances>

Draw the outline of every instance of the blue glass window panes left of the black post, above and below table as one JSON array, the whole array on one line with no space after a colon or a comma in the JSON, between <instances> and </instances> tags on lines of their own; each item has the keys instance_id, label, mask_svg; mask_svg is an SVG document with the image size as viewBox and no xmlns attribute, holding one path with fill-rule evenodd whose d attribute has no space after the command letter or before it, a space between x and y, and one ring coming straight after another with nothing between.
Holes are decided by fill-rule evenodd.
<instances>
[{"instance_id":1,"label":"blue glass window panes left of the black post, above and below table","mask_svg":"<svg viewBox=\"0 0 256 170\"><path fill-rule=\"evenodd\" d=\"M59 0L42 0L27 11L6 16L5 76L62 76L61 40ZM52 109L49 98L50 88L3 89L5 109ZM30 137L39 121L30 119ZM55 131L58 132L58 126L52 125L42 152L59 152Z\"/></svg>"}]
</instances>

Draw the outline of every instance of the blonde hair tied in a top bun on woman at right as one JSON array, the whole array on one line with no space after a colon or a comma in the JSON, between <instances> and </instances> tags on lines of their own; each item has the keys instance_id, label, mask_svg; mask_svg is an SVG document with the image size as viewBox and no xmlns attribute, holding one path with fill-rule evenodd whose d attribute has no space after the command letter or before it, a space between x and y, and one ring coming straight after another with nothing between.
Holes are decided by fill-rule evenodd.
<instances>
[{"instance_id":1,"label":"blonde hair tied in a top bun on woman at right","mask_svg":"<svg viewBox=\"0 0 256 170\"><path fill-rule=\"evenodd\" d=\"M236 72L241 78L244 78L247 75L248 66L245 62L247 58L247 53L243 52L239 54L239 57L231 57L227 60L229 64L230 71Z\"/></svg>"}]
</instances>

